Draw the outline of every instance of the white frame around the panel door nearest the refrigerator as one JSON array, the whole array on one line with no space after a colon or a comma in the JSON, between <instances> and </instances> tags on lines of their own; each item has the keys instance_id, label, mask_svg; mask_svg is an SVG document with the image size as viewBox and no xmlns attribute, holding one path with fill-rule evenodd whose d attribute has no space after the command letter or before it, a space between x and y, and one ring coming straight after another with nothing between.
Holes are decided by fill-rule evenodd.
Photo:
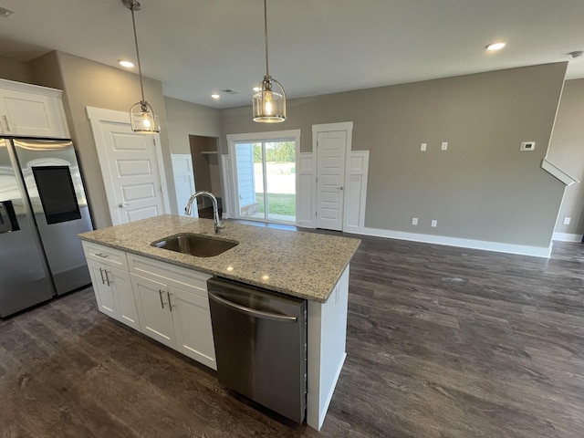
<instances>
[{"instance_id":1,"label":"white frame around the panel door nearest the refrigerator","mask_svg":"<svg viewBox=\"0 0 584 438\"><path fill-rule=\"evenodd\" d=\"M98 159L99 159L99 168L101 171L101 175L103 178L103 185L106 191L106 198L108 200L108 209L110 210L110 219L112 224L117 224L118 219L117 215L111 210L111 205L118 203L116 198L116 193L113 192L111 184L105 181L105 178L108 177L110 181L112 180L112 176L110 173L110 167L108 166L107 159L106 159L106 149L105 149L105 141L103 139L103 135L101 134L101 130L99 129L101 122L107 123L119 123L123 125L127 125L130 127L130 113L125 111L117 111L117 110L107 110L104 108L95 108L95 107L86 107L85 108L89 124L91 125L91 133L93 134L93 141L95 143L95 149L98 152ZM162 143L161 138L158 133L156 134L143 134L143 135L151 135L154 141L154 152L156 154L156 165L158 167L158 172L160 175L161 180L161 195L162 195L162 205L164 206L164 213L171 212L171 205L169 203L169 191L168 185L166 183L166 172L164 172L164 161L162 158Z\"/></svg>"}]
</instances>

